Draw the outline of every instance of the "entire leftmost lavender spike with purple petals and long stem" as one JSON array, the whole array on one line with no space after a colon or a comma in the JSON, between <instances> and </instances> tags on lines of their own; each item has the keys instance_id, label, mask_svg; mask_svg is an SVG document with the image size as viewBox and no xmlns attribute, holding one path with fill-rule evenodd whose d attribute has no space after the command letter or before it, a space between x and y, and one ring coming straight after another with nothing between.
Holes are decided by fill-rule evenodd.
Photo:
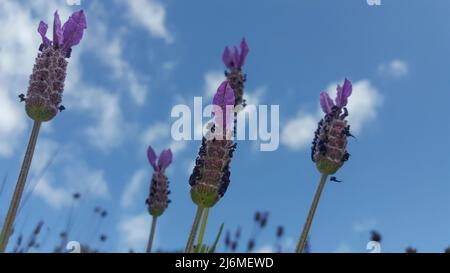
<instances>
[{"instance_id":1,"label":"entire leftmost lavender spike with purple petals and long stem","mask_svg":"<svg viewBox=\"0 0 450 273\"><path fill-rule=\"evenodd\" d=\"M33 159L41 123L50 121L57 115L58 111L65 109L61 102L66 79L67 59L70 58L72 47L80 43L86 28L86 16L83 10L74 12L62 26L58 12L55 12L53 40L46 36L48 25L42 21L39 23L37 31L42 37L42 43L39 46L40 53L36 58L30 76L27 95L19 95L20 100L25 101L26 113L33 119L34 124L14 196L0 235L0 252L4 252L8 244Z\"/></svg>"}]
</instances>

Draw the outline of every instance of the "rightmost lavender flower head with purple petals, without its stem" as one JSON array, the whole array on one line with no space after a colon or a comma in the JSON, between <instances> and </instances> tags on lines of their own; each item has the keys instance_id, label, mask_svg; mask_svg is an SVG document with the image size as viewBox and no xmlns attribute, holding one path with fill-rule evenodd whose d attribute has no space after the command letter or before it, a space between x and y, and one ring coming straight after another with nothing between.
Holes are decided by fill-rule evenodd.
<instances>
[{"instance_id":1,"label":"rightmost lavender flower head with purple petals, without its stem","mask_svg":"<svg viewBox=\"0 0 450 273\"><path fill-rule=\"evenodd\" d=\"M351 94L352 83L347 79L342 87L337 87L336 104L328 93L320 94L320 105L325 117L319 122L315 132L311 157L322 174L336 173L350 157L347 138L351 133L346 120L346 105Z\"/></svg>"}]
</instances>

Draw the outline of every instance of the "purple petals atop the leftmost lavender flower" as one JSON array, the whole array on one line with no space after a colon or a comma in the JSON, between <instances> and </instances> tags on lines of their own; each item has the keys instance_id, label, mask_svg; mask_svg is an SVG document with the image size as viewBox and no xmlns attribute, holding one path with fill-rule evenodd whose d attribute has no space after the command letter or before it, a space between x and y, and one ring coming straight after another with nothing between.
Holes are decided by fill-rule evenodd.
<instances>
[{"instance_id":1,"label":"purple petals atop the leftmost lavender flower","mask_svg":"<svg viewBox=\"0 0 450 273\"><path fill-rule=\"evenodd\" d=\"M56 11L53 21L53 41L46 36L48 30L46 23L42 21L39 23L38 32L42 37L43 48L53 46L55 49L66 52L69 56L72 47L80 43L86 28L86 16L83 10L74 12L62 27L58 11Z\"/></svg>"}]
</instances>

